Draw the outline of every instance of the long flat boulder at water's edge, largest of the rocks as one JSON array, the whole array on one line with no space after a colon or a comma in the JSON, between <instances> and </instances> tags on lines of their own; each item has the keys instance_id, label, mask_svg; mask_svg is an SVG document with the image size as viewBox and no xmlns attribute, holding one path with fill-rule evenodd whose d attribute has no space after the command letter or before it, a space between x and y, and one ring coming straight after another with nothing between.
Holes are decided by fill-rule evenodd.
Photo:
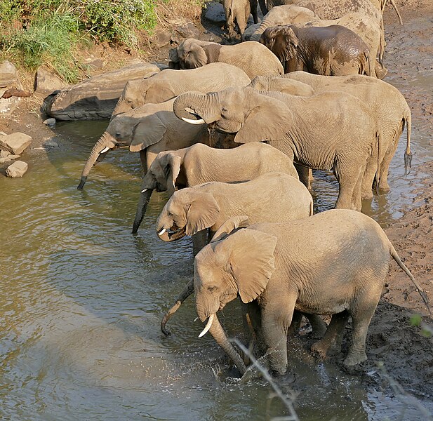
<instances>
[{"instance_id":1,"label":"long flat boulder at water's edge, largest of the rocks","mask_svg":"<svg viewBox=\"0 0 433 421\"><path fill-rule=\"evenodd\" d=\"M126 82L159 72L147 62L93 76L55 95L47 113L57 120L109 119Z\"/></svg>"}]
</instances>

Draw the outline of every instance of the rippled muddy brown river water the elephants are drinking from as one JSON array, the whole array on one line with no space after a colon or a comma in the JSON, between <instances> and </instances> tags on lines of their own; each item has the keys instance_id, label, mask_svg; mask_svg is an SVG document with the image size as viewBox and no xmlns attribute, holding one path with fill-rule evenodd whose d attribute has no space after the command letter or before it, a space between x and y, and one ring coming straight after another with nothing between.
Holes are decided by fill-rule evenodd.
<instances>
[{"instance_id":1,"label":"rippled muddy brown river water the elephants are drinking from","mask_svg":"<svg viewBox=\"0 0 433 421\"><path fill-rule=\"evenodd\" d=\"M192 246L189 239L156 239L164 194L154 194L139 234L130 234L138 154L112 152L84 191L76 190L106 125L59 124L53 133L59 148L34 149L24 178L0 179L0 418L265 420L286 414L279 399L269 398L266 382L240 384L213 340L197 338L202 326L194 322L192 300L169 323L171 338L161 334L161 315L192 276ZM414 163L432 159L428 141L415 128ZM382 225L411 206L422 179L420 171L404 177L404 143L403 136L392 162L392 192L364 206ZM331 208L333 179L317 173L314 189L317 210ZM221 319L241 335L236 303ZM300 393L301 420L395 419L401 412L403 399L366 392L359 377L292 346L295 377L281 377L279 384ZM425 418L410 403L406 419Z\"/></svg>"}]
</instances>

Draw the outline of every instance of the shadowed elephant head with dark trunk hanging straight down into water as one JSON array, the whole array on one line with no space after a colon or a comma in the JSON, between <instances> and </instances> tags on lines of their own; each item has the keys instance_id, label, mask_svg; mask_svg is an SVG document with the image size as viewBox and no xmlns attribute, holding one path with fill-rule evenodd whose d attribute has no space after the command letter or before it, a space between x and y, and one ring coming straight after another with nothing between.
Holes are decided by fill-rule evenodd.
<instances>
[{"instance_id":1,"label":"shadowed elephant head with dark trunk hanging straight down into water","mask_svg":"<svg viewBox=\"0 0 433 421\"><path fill-rule=\"evenodd\" d=\"M175 184L180 173L181 164L182 156L177 151L159 152L158 156L156 156L143 178L133 224L133 234L140 227L153 190L156 189L156 192L168 192L170 196L175 192Z\"/></svg>"}]
</instances>

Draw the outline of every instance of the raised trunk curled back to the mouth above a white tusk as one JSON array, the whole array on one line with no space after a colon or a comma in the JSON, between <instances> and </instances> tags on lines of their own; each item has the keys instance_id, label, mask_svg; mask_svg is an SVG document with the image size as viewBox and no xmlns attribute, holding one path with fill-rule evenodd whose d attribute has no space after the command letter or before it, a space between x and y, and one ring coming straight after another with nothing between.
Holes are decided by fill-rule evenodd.
<instances>
[{"instance_id":1,"label":"raised trunk curled back to the mouth above a white tusk","mask_svg":"<svg viewBox=\"0 0 433 421\"><path fill-rule=\"evenodd\" d=\"M179 95L173 102L173 112L187 123L213 123L220 118L216 93L187 92Z\"/></svg>"}]
</instances>

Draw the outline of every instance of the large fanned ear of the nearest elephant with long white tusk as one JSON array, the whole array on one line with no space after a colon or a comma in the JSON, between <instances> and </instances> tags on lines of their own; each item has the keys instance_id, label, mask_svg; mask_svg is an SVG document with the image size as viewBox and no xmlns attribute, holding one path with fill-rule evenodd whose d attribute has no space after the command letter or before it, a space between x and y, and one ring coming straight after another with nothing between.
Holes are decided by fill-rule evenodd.
<instances>
[{"instance_id":1,"label":"large fanned ear of the nearest elephant with long white tusk","mask_svg":"<svg viewBox=\"0 0 433 421\"><path fill-rule=\"evenodd\" d=\"M277 237L256 231L241 229L215 246L229 249L229 267L237 283L242 302L251 302L265 290L275 270L274 250Z\"/></svg>"}]
</instances>

